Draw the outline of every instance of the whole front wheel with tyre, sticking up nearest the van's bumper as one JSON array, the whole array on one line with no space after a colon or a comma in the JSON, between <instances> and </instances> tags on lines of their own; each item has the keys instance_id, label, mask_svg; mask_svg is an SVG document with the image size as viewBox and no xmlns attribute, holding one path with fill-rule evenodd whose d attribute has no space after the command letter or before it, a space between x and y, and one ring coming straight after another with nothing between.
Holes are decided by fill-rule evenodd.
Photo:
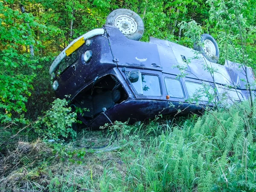
<instances>
[{"instance_id":1,"label":"whole front wheel with tyre, sticking up nearest the van's bumper","mask_svg":"<svg viewBox=\"0 0 256 192\"><path fill-rule=\"evenodd\" d=\"M139 41L144 33L140 16L129 9L116 9L106 20L107 25L116 26L128 39Z\"/></svg>"}]
</instances>

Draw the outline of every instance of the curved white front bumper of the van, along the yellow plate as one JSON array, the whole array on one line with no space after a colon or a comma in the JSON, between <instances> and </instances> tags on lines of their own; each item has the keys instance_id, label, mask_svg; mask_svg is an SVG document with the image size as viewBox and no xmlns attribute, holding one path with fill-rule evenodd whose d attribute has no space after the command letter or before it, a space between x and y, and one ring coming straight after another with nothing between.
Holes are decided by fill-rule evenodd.
<instances>
[{"instance_id":1,"label":"curved white front bumper of the van, along the yellow plate","mask_svg":"<svg viewBox=\"0 0 256 192\"><path fill-rule=\"evenodd\" d=\"M58 57L55 58L55 60L52 62L52 65L50 67L49 73L50 75L55 71L55 69L58 67L58 64L60 64L60 62L67 56L66 55L66 50L68 48L70 48L74 43L76 43L76 41L78 41L81 38L84 38L84 41L86 41L87 39L90 39L96 35L103 35L104 34L104 29L93 29L87 33L85 33L84 35L80 36L79 38L75 39L74 41L72 41L59 55Z\"/></svg>"}]
</instances>

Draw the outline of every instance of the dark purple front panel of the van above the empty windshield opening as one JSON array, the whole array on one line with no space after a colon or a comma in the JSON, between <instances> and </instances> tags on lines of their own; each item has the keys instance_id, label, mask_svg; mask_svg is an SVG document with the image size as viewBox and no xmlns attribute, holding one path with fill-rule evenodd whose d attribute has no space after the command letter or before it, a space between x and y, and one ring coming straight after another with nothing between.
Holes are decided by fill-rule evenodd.
<instances>
[{"instance_id":1,"label":"dark purple front panel of the van above the empty windshield opening","mask_svg":"<svg viewBox=\"0 0 256 192\"><path fill-rule=\"evenodd\" d=\"M73 99L81 90L93 83L96 77L110 73L117 65L113 61L108 39L104 36L97 36L90 39L90 46L82 45L78 52L78 59L58 77L59 89L56 93L64 98L70 95ZM92 59L87 64L83 61L84 52L87 49L93 52ZM104 53L104 54L102 54Z\"/></svg>"}]
</instances>

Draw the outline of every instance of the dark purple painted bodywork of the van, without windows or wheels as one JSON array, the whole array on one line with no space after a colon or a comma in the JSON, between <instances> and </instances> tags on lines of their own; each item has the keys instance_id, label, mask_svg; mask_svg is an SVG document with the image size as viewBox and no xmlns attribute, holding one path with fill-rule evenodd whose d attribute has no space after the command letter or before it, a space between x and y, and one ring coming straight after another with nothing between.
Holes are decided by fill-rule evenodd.
<instances>
[{"instance_id":1,"label":"dark purple painted bodywork of the van, without windows or wheels","mask_svg":"<svg viewBox=\"0 0 256 192\"><path fill-rule=\"evenodd\" d=\"M90 46L83 44L78 49L79 57L74 64L57 75L58 64L66 56L64 49L53 62L50 72L55 73L53 81L57 80L59 83L56 95L60 98L70 95L71 101L76 100L82 91L92 89L93 84L97 83L97 79L102 79L107 75L114 76L118 81L117 84L127 94L127 98L121 103L116 103L107 111L102 111L112 122L115 120L127 121L128 119L130 119L130 122L134 122L145 118L154 118L159 114L184 115L190 112L202 113L206 105L211 106L212 104L207 102L199 102L199 105L195 103L189 104L187 101L186 81L212 85L212 75L203 69L207 65L211 65L216 69L214 80L218 88L223 88L224 86L233 87L232 91L235 90L239 92L243 99L248 99L249 92L245 82L241 81L241 79L246 79L246 71L249 82L254 81L252 70L249 67L239 67L239 64L231 61L226 61L224 66L209 63L201 54L187 64L187 75L179 79L184 97L169 97L169 99L166 99L168 98L166 97L168 93L164 79L177 78L180 70L174 66L185 66L181 56L185 56L186 59L195 57L193 49L157 38L151 38L150 43L129 40L119 29L112 26L104 26L98 32L101 35L96 35L95 32L92 35L86 35L84 39L90 38L91 44ZM76 40L73 42L76 42ZM93 55L91 60L86 63L82 58L87 49L92 50ZM158 76L161 87L160 96L137 94L127 77L127 73L135 69L140 70L140 73L143 74ZM104 88L102 88L102 91L104 91ZM255 93L255 87L253 87L253 93ZM102 100L107 99L102 98ZM84 122L92 128L97 128L109 123L109 120L105 115L99 113L92 115L90 119L85 119Z\"/></svg>"}]
</instances>

